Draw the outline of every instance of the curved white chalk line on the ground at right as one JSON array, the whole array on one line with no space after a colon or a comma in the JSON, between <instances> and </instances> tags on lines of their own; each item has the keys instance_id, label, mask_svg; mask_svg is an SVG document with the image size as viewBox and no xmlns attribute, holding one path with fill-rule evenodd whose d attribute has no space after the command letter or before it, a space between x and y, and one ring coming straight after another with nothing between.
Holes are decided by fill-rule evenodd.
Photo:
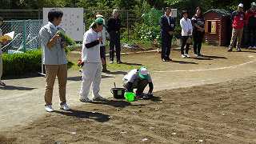
<instances>
[{"instance_id":1,"label":"curved white chalk line on the ground at right","mask_svg":"<svg viewBox=\"0 0 256 144\"><path fill-rule=\"evenodd\" d=\"M250 61L250 62L245 62L236 66L226 66L226 67L218 67L218 68L212 68L212 69L199 69L199 70L168 70L168 71L154 71L153 73L176 73L176 72L196 72L196 71L210 71L210 70L226 70L226 69L234 69L237 68L238 66L244 66L244 65L248 65L250 63L254 63L256 62L256 60L254 61Z\"/></svg>"}]
</instances>

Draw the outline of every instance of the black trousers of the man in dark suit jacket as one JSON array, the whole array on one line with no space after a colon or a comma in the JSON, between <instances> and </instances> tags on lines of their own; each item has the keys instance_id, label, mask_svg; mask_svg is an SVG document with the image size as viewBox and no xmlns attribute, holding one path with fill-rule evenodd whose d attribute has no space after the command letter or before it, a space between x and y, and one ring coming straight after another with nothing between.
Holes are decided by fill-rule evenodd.
<instances>
[{"instance_id":1,"label":"black trousers of the man in dark suit jacket","mask_svg":"<svg viewBox=\"0 0 256 144\"><path fill-rule=\"evenodd\" d=\"M165 31L161 31L162 38L162 53L161 58L168 59L170 58L170 48L173 36L167 34Z\"/></svg>"}]
</instances>

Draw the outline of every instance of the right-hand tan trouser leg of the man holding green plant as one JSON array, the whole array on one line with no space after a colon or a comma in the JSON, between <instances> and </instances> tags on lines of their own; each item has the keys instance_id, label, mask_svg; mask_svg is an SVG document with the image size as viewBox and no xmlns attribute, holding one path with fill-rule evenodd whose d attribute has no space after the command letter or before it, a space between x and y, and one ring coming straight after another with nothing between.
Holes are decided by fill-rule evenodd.
<instances>
[{"instance_id":1,"label":"right-hand tan trouser leg of the man holding green plant","mask_svg":"<svg viewBox=\"0 0 256 144\"><path fill-rule=\"evenodd\" d=\"M66 103L67 64L58 66L58 91L61 105Z\"/></svg>"}]
</instances>

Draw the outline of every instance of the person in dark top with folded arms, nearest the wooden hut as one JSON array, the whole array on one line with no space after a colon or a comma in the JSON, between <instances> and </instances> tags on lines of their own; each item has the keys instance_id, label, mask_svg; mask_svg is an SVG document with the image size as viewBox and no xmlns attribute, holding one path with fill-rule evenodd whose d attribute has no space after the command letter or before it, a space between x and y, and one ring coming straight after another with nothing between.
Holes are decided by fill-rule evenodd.
<instances>
[{"instance_id":1,"label":"person in dark top with folded arms, nearest the wooden hut","mask_svg":"<svg viewBox=\"0 0 256 144\"><path fill-rule=\"evenodd\" d=\"M193 25L194 56L202 57L201 47L203 35L205 34L205 18L202 16L202 9L200 7L197 7L195 11L196 14L191 19Z\"/></svg>"}]
</instances>

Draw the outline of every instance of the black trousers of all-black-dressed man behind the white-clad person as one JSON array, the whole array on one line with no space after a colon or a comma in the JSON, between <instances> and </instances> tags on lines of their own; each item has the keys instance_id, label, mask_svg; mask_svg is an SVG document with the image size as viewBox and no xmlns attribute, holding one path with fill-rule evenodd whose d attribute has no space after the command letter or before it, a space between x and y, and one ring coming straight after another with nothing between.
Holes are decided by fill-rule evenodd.
<instances>
[{"instance_id":1,"label":"black trousers of all-black-dressed man behind the white-clad person","mask_svg":"<svg viewBox=\"0 0 256 144\"><path fill-rule=\"evenodd\" d=\"M121 45L119 31L110 31L110 61L114 61L114 51L116 52L117 61L120 62Z\"/></svg>"}]
</instances>

